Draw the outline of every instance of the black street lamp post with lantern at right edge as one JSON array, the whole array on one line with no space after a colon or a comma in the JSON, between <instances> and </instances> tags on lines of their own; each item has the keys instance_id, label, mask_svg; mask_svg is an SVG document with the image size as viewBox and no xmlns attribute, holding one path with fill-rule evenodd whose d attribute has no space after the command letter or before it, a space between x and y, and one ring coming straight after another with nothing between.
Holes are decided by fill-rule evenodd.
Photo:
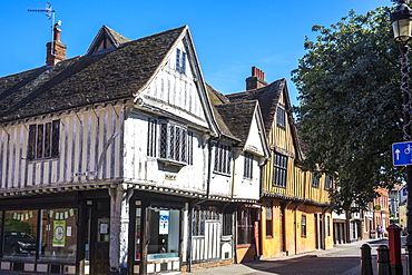
<instances>
[{"instance_id":1,"label":"black street lamp post with lantern at right edge","mask_svg":"<svg viewBox=\"0 0 412 275\"><path fill-rule=\"evenodd\" d=\"M403 139L411 140L411 94L409 90L409 60L408 42L412 39L412 9L404 0L399 1L399 6L391 13L391 23L393 27L393 35L396 42L401 45L401 72L402 84L401 91L403 95ZM406 188L408 188L408 212L406 226L408 236L405 240L406 257L408 257L408 274L412 275L412 166L405 167L406 173Z\"/></svg>"}]
</instances>

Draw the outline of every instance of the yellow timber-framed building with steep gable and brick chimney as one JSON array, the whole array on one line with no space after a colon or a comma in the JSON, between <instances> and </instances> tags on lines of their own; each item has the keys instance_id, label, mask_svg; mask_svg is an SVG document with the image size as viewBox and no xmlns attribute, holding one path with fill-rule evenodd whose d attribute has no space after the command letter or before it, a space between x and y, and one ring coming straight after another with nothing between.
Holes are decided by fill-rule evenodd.
<instances>
[{"instance_id":1,"label":"yellow timber-framed building with steep gable and brick chimney","mask_svg":"<svg viewBox=\"0 0 412 275\"><path fill-rule=\"evenodd\" d=\"M333 247L333 219L328 206L331 178L314 176L298 166L303 154L293 122L286 79L267 84L253 67L247 91L227 95L230 101L258 100L271 146L271 160L263 168L255 251L238 247L238 261L294 255Z\"/></svg>"}]
</instances>

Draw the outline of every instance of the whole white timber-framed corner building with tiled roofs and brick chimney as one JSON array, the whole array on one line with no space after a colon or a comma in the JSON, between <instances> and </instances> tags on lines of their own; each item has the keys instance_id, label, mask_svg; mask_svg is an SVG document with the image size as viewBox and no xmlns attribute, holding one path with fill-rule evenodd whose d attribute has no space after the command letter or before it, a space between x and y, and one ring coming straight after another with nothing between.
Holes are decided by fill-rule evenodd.
<instances>
[{"instance_id":1,"label":"whole white timber-framed corner building with tiled roofs and brick chimney","mask_svg":"<svg viewBox=\"0 0 412 275\"><path fill-rule=\"evenodd\" d=\"M256 207L269 156L258 102L224 121L236 108L210 105L188 27L130 41L104 26L71 59L59 33L47 66L0 78L0 269L235 262L236 213Z\"/></svg>"}]
</instances>

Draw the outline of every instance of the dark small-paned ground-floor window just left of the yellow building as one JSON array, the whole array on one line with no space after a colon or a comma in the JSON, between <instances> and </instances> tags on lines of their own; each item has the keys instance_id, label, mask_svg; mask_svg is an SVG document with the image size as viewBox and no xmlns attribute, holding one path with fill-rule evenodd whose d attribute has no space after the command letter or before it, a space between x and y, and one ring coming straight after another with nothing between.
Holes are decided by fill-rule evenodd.
<instances>
[{"instance_id":1,"label":"dark small-paned ground-floor window just left of the yellow building","mask_svg":"<svg viewBox=\"0 0 412 275\"><path fill-rule=\"evenodd\" d=\"M237 220L237 244L252 245L253 242L253 227L254 227L254 209L245 207L239 209L239 217Z\"/></svg>"}]
</instances>

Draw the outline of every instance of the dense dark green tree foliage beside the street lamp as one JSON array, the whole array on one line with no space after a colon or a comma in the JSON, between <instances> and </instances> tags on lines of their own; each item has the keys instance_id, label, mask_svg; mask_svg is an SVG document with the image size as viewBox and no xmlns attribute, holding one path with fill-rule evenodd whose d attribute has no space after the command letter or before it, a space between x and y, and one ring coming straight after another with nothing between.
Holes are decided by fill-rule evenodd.
<instances>
[{"instance_id":1,"label":"dense dark green tree foliage beside the street lamp","mask_svg":"<svg viewBox=\"0 0 412 275\"><path fill-rule=\"evenodd\" d=\"M379 186L399 181L391 145L402 141L400 50L393 41L391 9L351 11L331 28L314 26L315 41L292 80L300 135L308 143L303 166L334 177L334 209L364 208Z\"/></svg>"}]
</instances>

